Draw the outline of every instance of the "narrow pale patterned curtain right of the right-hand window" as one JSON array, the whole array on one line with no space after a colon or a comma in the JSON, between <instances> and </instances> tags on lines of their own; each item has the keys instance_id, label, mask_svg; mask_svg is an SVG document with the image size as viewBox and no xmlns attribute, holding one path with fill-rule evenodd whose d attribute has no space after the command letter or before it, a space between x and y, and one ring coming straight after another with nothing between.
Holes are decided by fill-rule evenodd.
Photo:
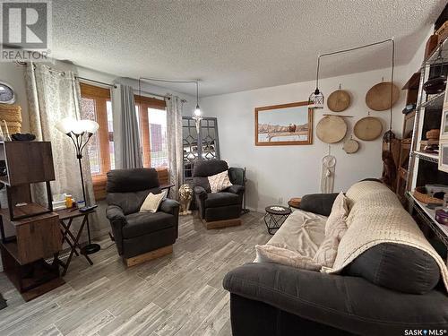
<instances>
[{"instance_id":1,"label":"narrow pale patterned curtain right of the right-hand window","mask_svg":"<svg viewBox=\"0 0 448 336\"><path fill-rule=\"evenodd\" d=\"M178 199L179 186L183 182L183 138L182 138L182 99L169 96L165 99L167 103L167 135L168 135L168 170L169 182L175 187L171 188L170 195Z\"/></svg>"}]
</instances>

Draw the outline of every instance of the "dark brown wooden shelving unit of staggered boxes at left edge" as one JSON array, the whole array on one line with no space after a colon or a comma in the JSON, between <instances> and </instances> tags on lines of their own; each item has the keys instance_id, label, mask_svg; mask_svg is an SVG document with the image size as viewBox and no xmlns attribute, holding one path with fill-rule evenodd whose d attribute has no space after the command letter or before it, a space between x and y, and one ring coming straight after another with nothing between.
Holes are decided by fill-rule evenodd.
<instances>
[{"instance_id":1,"label":"dark brown wooden shelving unit of staggered boxes at left edge","mask_svg":"<svg viewBox=\"0 0 448 336\"><path fill-rule=\"evenodd\" d=\"M0 163L5 168L0 184L8 198L7 209L0 211L2 263L8 278L28 301L65 283L58 263L45 260L62 248L49 185L55 180L51 143L0 142ZM33 201L30 185L36 183L47 186L47 206ZM13 235L6 237L5 232Z\"/></svg>"}]
</instances>

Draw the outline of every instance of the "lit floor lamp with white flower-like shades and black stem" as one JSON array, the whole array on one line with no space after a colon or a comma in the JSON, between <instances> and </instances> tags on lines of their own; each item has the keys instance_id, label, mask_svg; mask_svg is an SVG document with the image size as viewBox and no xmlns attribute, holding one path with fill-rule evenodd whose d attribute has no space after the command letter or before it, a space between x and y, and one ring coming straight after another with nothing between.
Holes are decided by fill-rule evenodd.
<instances>
[{"instance_id":1,"label":"lit floor lamp with white flower-like shades and black stem","mask_svg":"<svg viewBox=\"0 0 448 336\"><path fill-rule=\"evenodd\" d=\"M56 124L58 131L67 135L72 139L74 149L76 151L76 159L78 159L82 184L82 197L87 206L87 198L85 194L84 176L82 174L82 151L89 142L91 136L98 131L98 123L92 120L73 120L72 118L65 118ZM101 249L98 244L92 244L90 239L90 225L89 218L87 218L87 235L89 237L89 244L82 247L82 254L94 254Z\"/></svg>"}]
</instances>

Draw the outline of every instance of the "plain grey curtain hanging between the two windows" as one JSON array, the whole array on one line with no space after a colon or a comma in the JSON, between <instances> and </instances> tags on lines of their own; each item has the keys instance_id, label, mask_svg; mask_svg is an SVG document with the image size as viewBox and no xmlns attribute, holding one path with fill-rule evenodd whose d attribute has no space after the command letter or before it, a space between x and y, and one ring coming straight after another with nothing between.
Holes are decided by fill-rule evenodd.
<instances>
[{"instance_id":1,"label":"plain grey curtain hanging between the two windows","mask_svg":"<svg viewBox=\"0 0 448 336\"><path fill-rule=\"evenodd\" d=\"M135 110L134 89L117 84L112 92L116 168L142 168L142 146Z\"/></svg>"}]
</instances>

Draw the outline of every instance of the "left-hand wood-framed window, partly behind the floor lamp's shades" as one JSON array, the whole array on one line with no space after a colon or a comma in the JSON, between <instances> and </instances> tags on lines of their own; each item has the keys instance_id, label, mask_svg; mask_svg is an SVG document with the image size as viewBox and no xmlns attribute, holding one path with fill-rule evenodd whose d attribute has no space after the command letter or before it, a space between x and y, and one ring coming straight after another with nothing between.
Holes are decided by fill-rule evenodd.
<instances>
[{"instance_id":1,"label":"left-hand wood-framed window, partly behind the floor lamp's shades","mask_svg":"<svg viewBox=\"0 0 448 336\"><path fill-rule=\"evenodd\" d=\"M81 111L83 118L99 124L99 130L92 135L87 151L95 198L102 199L106 195L106 173L115 167L110 90L81 83Z\"/></svg>"}]
</instances>

